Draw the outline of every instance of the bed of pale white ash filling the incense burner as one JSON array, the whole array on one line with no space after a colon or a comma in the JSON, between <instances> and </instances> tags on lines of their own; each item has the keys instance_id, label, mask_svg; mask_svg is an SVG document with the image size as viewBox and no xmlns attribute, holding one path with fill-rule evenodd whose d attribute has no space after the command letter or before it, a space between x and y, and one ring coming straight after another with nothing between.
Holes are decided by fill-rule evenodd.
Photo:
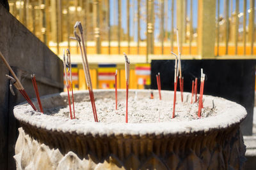
<instances>
[{"instance_id":1,"label":"bed of pale white ash filling the incense burner","mask_svg":"<svg viewBox=\"0 0 256 170\"><path fill-rule=\"evenodd\" d=\"M118 110L115 110L115 99L96 99L95 105L99 122L105 124L125 122L125 100L118 101ZM217 109L212 103L204 103L202 116L212 117L216 115ZM73 106L72 106L73 113ZM129 123L154 123L154 122L179 122L183 120L198 119L198 103L188 103L177 101L175 106L175 118L172 118L173 101L163 101L159 99L137 99L129 97L128 102L128 122ZM70 119L69 106L56 107L45 110L46 115ZM92 104L90 101L75 103L76 119L84 122L94 122Z\"/></svg>"}]
</instances>

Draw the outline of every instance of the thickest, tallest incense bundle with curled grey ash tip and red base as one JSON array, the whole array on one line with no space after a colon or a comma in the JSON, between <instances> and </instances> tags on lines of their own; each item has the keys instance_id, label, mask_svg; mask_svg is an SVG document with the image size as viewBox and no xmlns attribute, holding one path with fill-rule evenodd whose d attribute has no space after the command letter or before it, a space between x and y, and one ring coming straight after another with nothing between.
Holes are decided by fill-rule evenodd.
<instances>
[{"instance_id":1,"label":"thickest, tallest incense bundle with curled grey ash tip and red base","mask_svg":"<svg viewBox=\"0 0 256 170\"><path fill-rule=\"evenodd\" d=\"M89 69L88 59L87 59L87 55L86 55L86 49L85 49L85 45L84 45L83 27L82 27L81 22L76 22L76 24L74 25L74 29L79 29L79 32L80 32L80 36L78 36L76 33L76 30L75 30L74 31L75 38L72 38L72 39L76 39L79 43L79 48L81 51L81 57L82 57L82 62L83 62L84 76L86 79L86 84L88 86L90 100L92 103L93 117L94 117L95 122L98 122L97 111L96 111L96 106L95 106L95 99L94 99L93 88L92 88L92 79L91 79L91 75L90 75L90 69ZM82 49L82 46L83 46L83 49Z\"/></svg>"}]
</instances>

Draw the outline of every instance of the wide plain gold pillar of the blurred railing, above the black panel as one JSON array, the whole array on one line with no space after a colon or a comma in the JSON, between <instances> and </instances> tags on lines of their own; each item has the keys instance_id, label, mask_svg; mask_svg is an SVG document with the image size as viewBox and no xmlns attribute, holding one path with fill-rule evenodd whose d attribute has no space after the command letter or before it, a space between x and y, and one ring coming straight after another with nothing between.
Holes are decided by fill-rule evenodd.
<instances>
[{"instance_id":1,"label":"wide plain gold pillar of the blurred railing, above the black panel","mask_svg":"<svg viewBox=\"0 0 256 170\"><path fill-rule=\"evenodd\" d=\"M198 1L198 55L214 57L216 1Z\"/></svg>"}]
</instances>

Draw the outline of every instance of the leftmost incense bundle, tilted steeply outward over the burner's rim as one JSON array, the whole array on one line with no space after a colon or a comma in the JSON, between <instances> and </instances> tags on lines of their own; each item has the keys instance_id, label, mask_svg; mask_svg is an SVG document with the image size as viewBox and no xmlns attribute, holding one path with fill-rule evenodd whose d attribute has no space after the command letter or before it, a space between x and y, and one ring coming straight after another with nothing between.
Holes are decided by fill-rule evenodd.
<instances>
[{"instance_id":1,"label":"leftmost incense bundle, tilted steeply outward over the burner's rim","mask_svg":"<svg viewBox=\"0 0 256 170\"><path fill-rule=\"evenodd\" d=\"M8 67L10 73L12 74L13 78L11 78L11 76L7 76L8 78L12 79L12 83L15 86L15 88L17 90L19 90L20 94L22 94L22 96L26 99L26 101L28 101L28 103L31 105L31 107L33 108L33 110L36 111L36 107L34 106L34 104L32 103L31 99L28 97L28 94L26 93L26 91L24 90L24 87L22 86L22 84L20 83L19 79L17 78L16 74L14 73L14 71L12 70L12 68L10 67L10 65L8 64L8 62L6 61L6 59L4 58L3 54L0 52L0 57L3 60L4 64L6 65L6 67Z\"/></svg>"}]
</instances>

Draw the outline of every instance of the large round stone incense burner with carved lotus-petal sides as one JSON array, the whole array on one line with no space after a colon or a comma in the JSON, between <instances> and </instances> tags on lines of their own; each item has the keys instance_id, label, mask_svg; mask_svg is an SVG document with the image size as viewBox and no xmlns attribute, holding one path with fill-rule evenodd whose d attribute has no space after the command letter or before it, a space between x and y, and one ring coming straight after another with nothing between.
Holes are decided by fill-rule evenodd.
<instances>
[{"instance_id":1,"label":"large round stone incense burner with carved lotus-petal sides","mask_svg":"<svg viewBox=\"0 0 256 170\"><path fill-rule=\"evenodd\" d=\"M129 96L135 95L149 97L150 91L129 91ZM118 90L118 96L125 97L125 90ZM184 92L186 96L190 94ZM83 100L88 92L75 92L74 97ZM95 99L100 97L114 98L115 90L95 90ZM173 92L162 91L163 100L172 97ZM204 100L212 103L211 96ZM67 93L41 101L44 110L67 106ZM13 110L21 125L14 156L17 169L243 169L246 149L239 124L246 110L218 97L214 105L216 116L191 121L85 124L36 113L23 103Z\"/></svg>"}]
</instances>

